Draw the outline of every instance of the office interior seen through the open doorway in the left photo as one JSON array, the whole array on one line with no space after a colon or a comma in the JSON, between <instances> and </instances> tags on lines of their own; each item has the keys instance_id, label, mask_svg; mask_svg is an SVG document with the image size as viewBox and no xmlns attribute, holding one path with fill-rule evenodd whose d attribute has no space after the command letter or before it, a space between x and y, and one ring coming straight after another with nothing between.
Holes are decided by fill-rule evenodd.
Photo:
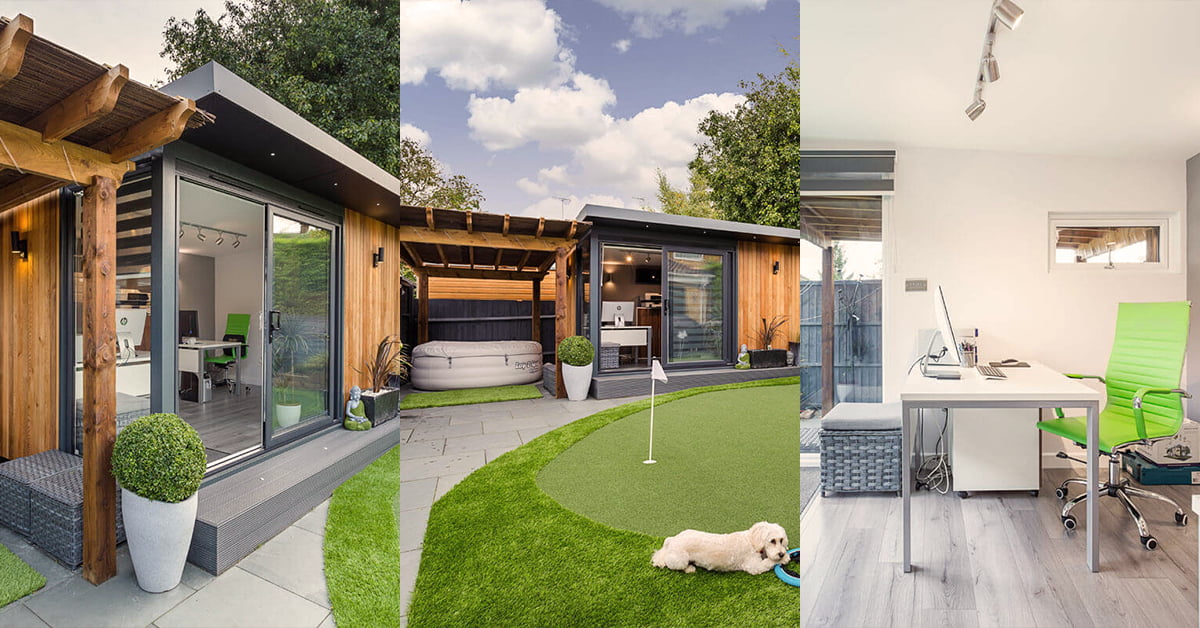
<instances>
[{"instance_id":1,"label":"office interior seen through the open doorway in the left photo","mask_svg":"<svg viewBox=\"0 0 1200 628\"><path fill-rule=\"evenodd\" d=\"M179 183L178 413L200 432L210 465L263 444L264 223L260 202ZM239 317L246 329L230 329ZM203 347L227 339L242 351ZM222 355L235 361L214 364Z\"/></svg>"}]
</instances>

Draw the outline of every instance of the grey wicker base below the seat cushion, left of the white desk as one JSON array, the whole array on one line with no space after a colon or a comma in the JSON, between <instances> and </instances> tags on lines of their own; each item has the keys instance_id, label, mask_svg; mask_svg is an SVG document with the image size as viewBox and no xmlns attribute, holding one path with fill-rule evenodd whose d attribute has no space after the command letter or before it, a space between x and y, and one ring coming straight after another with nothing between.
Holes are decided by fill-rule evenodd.
<instances>
[{"instance_id":1,"label":"grey wicker base below the seat cushion, left of the white desk","mask_svg":"<svg viewBox=\"0 0 1200 628\"><path fill-rule=\"evenodd\" d=\"M900 492L900 430L821 430L821 496Z\"/></svg>"}]
</instances>

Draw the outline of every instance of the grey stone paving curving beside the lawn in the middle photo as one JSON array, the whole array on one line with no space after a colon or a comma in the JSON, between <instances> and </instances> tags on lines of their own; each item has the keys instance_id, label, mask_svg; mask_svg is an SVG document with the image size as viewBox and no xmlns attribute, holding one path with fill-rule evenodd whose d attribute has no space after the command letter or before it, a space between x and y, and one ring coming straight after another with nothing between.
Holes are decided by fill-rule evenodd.
<instances>
[{"instance_id":1,"label":"grey stone paving curving beside the lawn in the middle photo","mask_svg":"<svg viewBox=\"0 0 1200 628\"><path fill-rule=\"evenodd\" d=\"M404 411L400 424L400 612L421 563L430 507L476 468L542 433L641 397L566 401L550 397Z\"/></svg>"}]
</instances>

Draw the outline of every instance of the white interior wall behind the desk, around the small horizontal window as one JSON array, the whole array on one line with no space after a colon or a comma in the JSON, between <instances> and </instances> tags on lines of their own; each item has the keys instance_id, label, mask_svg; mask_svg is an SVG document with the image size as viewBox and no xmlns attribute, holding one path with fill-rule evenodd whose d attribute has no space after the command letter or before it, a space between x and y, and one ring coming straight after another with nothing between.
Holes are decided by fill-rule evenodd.
<instances>
[{"instance_id":1,"label":"white interior wall behind the desk, around the small horizontal window","mask_svg":"<svg viewBox=\"0 0 1200 628\"><path fill-rule=\"evenodd\" d=\"M884 400L899 399L917 330L936 327L931 292L906 293L905 279L943 286L954 327L979 328L984 360L1103 373L1118 303L1187 298L1186 233L1175 271L1051 271L1048 214L1182 215L1186 201L1182 161L900 149L884 216Z\"/></svg>"}]
</instances>

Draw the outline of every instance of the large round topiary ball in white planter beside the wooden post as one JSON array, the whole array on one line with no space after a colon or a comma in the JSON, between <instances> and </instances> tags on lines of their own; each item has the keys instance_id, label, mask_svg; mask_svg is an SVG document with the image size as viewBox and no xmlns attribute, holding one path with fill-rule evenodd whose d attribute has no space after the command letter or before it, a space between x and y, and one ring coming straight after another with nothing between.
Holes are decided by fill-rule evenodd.
<instances>
[{"instance_id":1,"label":"large round topiary ball in white planter beside the wooden post","mask_svg":"<svg viewBox=\"0 0 1200 628\"><path fill-rule=\"evenodd\" d=\"M112 462L138 586L170 591L184 576L196 527L205 465L200 435L174 414L142 417L116 435Z\"/></svg>"}]
</instances>

